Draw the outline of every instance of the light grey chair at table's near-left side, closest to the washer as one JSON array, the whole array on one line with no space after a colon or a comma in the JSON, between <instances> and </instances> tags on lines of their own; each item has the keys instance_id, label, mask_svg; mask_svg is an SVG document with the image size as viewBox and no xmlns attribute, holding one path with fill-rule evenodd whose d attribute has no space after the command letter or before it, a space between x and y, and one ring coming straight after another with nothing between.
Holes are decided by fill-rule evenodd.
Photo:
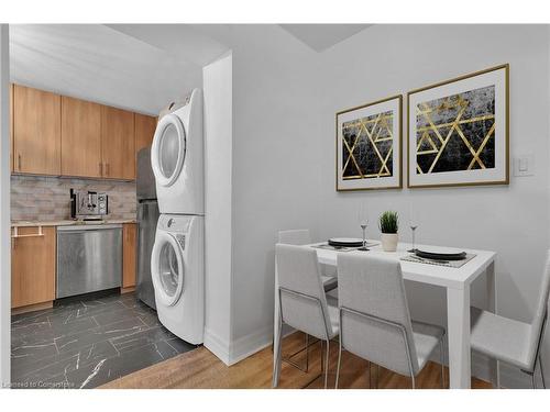
<instances>
[{"instance_id":1,"label":"light grey chair at table's near-left side, closest to the washer","mask_svg":"<svg viewBox=\"0 0 550 412\"><path fill-rule=\"evenodd\" d=\"M296 245L277 244L279 330L287 324L326 343L324 388L328 383L330 339L339 333L338 308L327 303L317 250ZM283 334L275 343L280 357ZM275 359L276 363L279 359Z\"/></svg>"}]
</instances>

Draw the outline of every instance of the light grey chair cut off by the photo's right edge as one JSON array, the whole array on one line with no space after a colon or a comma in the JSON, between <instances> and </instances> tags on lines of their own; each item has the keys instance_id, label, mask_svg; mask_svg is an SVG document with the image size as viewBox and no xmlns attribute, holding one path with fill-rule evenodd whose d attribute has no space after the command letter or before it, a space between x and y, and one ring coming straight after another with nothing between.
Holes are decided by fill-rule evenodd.
<instances>
[{"instance_id":1,"label":"light grey chair cut off by the photo's right edge","mask_svg":"<svg viewBox=\"0 0 550 412\"><path fill-rule=\"evenodd\" d=\"M518 367L524 374L531 377L534 389L537 388L535 380L537 360L540 365L542 387L546 389L540 346L548 321L549 293L550 250L547 253L540 293L531 323L499 316L475 307L470 309L472 349Z\"/></svg>"}]
</instances>

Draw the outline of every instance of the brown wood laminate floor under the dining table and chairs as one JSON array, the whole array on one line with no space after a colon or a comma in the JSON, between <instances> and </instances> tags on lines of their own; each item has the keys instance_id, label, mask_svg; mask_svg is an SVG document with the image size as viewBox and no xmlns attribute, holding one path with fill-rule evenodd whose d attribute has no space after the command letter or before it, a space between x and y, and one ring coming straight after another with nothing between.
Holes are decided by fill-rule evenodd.
<instances>
[{"instance_id":1,"label":"brown wood laminate floor under the dining table and chairs","mask_svg":"<svg viewBox=\"0 0 550 412\"><path fill-rule=\"evenodd\" d=\"M293 354L304 346L304 335L295 333L285 338L283 354ZM293 358L297 363L305 363L305 352ZM338 359L338 343L331 343L329 387L334 386L334 372ZM340 388L367 389L367 361L346 352L342 354L342 369ZM207 348L200 347L187 354L153 365L146 369L127 375L113 380L101 388L271 388L273 368L273 353L267 347L233 366L226 366ZM320 344L310 347L309 371L307 374L283 363L279 388L322 388L323 378L320 377ZM372 368L373 385L375 368ZM417 388L439 389L441 367L429 363L417 377ZM446 368L446 385L449 383ZM410 379L380 368L378 388L408 389ZM472 379L472 388L490 389L491 385L479 379Z\"/></svg>"}]
</instances>

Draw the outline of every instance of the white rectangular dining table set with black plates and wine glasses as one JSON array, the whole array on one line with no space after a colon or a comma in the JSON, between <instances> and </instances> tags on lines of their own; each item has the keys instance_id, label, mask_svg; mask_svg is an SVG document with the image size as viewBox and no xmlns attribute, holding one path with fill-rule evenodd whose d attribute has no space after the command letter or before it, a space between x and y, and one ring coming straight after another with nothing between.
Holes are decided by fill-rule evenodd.
<instances>
[{"instance_id":1,"label":"white rectangular dining table set with black plates and wine glasses","mask_svg":"<svg viewBox=\"0 0 550 412\"><path fill-rule=\"evenodd\" d=\"M454 389L468 389L471 387L471 349L470 349L470 286L472 282L485 274L487 309L496 313L496 279L495 279L495 258L496 253L490 250L463 249L469 254L475 255L471 260L460 268L446 267L439 265L429 265L425 263L405 261L402 257L409 255L407 252L411 245L399 243L397 252L384 252L380 242L369 241L369 243L377 243L376 246L370 247L369 252L351 250L338 252L333 249L316 248L319 263L327 266L337 266L337 257L339 253L351 254L372 254L389 257L399 260L402 264L403 277L406 280L433 285L446 288L447 291L447 335L449 349L449 386ZM305 245L311 247L320 244ZM417 248L427 247L426 245L416 245ZM275 265L275 291L278 288L277 268ZM276 293L275 293L276 296ZM427 302L426 304L429 304ZM278 299L275 299L275 323L274 323L274 342L278 339L280 311ZM280 374L280 358L278 357L278 347L273 348L273 385L278 385ZM278 359L276 361L275 359ZM499 386L498 363L492 361L492 379L493 383Z\"/></svg>"}]
</instances>

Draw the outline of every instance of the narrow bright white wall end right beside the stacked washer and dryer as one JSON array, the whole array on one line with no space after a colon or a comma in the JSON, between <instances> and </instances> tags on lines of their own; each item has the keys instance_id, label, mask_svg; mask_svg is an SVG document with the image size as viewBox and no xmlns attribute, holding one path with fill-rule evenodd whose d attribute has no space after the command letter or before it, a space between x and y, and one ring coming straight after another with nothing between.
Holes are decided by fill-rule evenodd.
<instances>
[{"instance_id":1,"label":"narrow bright white wall end right beside the stacked washer and dryer","mask_svg":"<svg viewBox=\"0 0 550 412\"><path fill-rule=\"evenodd\" d=\"M205 346L230 363L232 248L232 56L204 68Z\"/></svg>"}]
</instances>

